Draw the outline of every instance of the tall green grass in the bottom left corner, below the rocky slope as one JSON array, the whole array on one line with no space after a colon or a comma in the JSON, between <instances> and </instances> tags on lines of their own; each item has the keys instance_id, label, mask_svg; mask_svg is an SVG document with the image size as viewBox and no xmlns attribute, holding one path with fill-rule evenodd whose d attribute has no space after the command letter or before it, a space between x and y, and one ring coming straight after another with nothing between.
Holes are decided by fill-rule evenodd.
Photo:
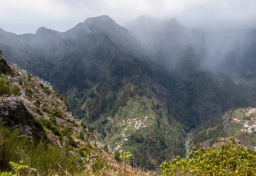
<instances>
[{"instance_id":1,"label":"tall green grass in the bottom left corner, below the rocky slope","mask_svg":"<svg viewBox=\"0 0 256 176\"><path fill-rule=\"evenodd\" d=\"M59 165L69 173L77 173L81 162L76 155L70 156L68 150L47 144L44 139L39 143L22 136L18 130L10 131L0 123L0 170L12 170L10 161L23 160L25 165L36 168L41 175L54 173ZM31 141L32 140L32 141ZM59 165L58 165L59 164Z\"/></svg>"}]
</instances>

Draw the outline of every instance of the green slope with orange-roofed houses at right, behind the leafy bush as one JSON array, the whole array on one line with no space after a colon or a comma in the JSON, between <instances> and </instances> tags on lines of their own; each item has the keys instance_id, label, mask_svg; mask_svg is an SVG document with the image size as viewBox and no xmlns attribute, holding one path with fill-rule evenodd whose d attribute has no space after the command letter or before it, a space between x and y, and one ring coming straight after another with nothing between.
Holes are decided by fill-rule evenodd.
<instances>
[{"instance_id":1,"label":"green slope with orange-roofed houses at right, behind the leafy bush","mask_svg":"<svg viewBox=\"0 0 256 176\"><path fill-rule=\"evenodd\" d=\"M190 147L211 147L220 138L236 138L250 150L256 150L256 109L231 109L198 125L190 136Z\"/></svg>"}]
</instances>

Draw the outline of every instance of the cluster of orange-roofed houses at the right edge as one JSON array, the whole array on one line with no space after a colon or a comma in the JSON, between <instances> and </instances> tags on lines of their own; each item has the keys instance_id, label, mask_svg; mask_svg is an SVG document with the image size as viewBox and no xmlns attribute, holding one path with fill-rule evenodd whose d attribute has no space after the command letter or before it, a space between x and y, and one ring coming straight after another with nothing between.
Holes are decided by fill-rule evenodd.
<instances>
[{"instance_id":1,"label":"cluster of orange-roofed houses at the right edge","mask_svg":"<svg viewBox=\"0 0 256 176\"><path fill-rule=\"evenodd\" d=\"M244 118L233 118L233 120L243 125L244 129L241 129L241 131L256 134L256 108L249 107L240 110L240 112L244 114Z\"/></svg>"}]
</instances>

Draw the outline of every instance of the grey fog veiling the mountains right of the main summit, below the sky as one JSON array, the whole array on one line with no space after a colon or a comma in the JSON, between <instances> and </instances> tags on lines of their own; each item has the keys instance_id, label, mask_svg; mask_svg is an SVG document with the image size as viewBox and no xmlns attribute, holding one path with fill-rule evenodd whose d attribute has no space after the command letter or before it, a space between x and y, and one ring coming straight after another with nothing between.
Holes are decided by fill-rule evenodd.
<instances>
[{"instance_id":1,"label":"grey fog veiling the mountains right of the main summit, below the sky","mask_svg":"<svg viewBox=\"0 0 256 176\"><path fill-rule=\"evenodd\" d=\"M176 18L157 19L143 15L125 23L125 27L148 51L153 51L162 60L172 60L172 66L175 66L173 60L180 55L175 46L189 45L203 58L202 63L207 69L227 75L234 74L232 66L236 67L243 59L248 59L244 57L251 54L248 52L255 41L255 29L189 29Z\"/></svg>"}]
</instances>

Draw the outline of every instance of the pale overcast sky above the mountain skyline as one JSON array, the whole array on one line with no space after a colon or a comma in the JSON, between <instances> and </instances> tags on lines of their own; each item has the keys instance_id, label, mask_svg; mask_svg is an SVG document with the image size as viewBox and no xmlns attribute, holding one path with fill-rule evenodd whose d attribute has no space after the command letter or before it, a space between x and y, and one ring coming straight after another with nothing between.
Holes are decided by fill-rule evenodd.
<instances>
[{"instance_id":1,"label":"pale overcast sky above the mountain skyline","mask_svg":"<svg viewBox=\"0 0 256 176\"><path fill-rule=\"evenodd\" d=\"M146 14L192 28L244 28L256 25L256 0L0 0L0 28L16 34L41 26L64 32L102 14L120 25Z\"/></svg>"}]
</instances>

